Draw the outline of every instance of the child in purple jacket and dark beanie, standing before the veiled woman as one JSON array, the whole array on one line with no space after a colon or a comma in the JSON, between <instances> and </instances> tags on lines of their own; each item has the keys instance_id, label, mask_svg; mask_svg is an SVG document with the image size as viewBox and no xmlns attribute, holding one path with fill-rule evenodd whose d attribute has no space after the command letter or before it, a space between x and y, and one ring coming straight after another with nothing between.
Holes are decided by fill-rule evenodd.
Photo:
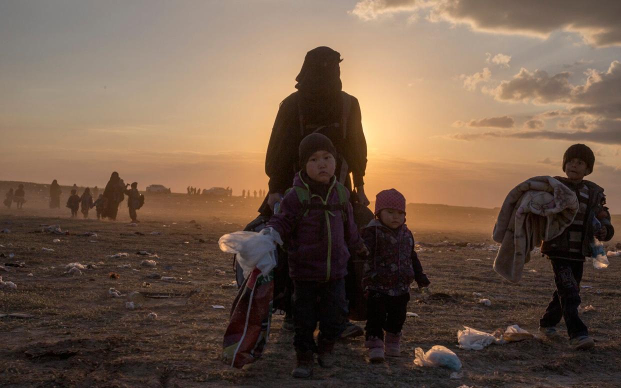
<instances>
[{"instance_id":1,"label":"child in purple jacket and dark beanie, standing before the veiled woman","mask_svg":"<svg viewBox=\"0 0 621 388\"><path fill-rule=\"evenodd\" d=\"M288 249L297 359L291 374L305 378L312 374L315 352L320 366L333 364L332 349L347 317L348 248L364 253L366 246L354 223L350 201L342 201L343 193L348 199L349 192L334 176L336 151L330 139L312 133L302 139L298 151L305 168L296 174L294 187L266 227L276 230Z\"/></svg>"}]
</instances>

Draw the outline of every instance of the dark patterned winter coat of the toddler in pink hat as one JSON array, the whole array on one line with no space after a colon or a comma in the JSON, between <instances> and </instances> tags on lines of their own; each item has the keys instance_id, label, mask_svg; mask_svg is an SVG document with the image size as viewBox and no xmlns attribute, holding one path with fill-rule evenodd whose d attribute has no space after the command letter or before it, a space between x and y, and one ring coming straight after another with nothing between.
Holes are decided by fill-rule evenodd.
<instances>
[{"instance_id":1,"label":"dark patterned winter coat of the toddler in pink hat","mask_svg":"<svg viewBox=\"0 0 621 388\"><path fill-rule=\"evenodd\" d=\"M366 290L399 296L409 292L414 280L420 287L429 285L414 250L414 236L405 223L393 230L373 220L363 228L362 236L369 250L362 279Z\"/></svg>"}]
</instances>

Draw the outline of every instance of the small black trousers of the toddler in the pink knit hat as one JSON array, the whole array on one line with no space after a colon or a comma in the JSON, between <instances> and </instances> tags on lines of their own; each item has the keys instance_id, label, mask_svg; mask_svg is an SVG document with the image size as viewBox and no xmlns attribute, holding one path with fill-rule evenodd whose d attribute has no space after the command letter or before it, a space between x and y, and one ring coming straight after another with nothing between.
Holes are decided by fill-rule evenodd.
<instances>
[{"instance_id":1,"label":"small black trousers of the toddler in the pink knit hat","mask_svg":"<svg viewBox=\"0 0 621 388\"><path fill-rule=\"evenodd\" d=\"M406 322L407 302L410 294L389 296L381 292L369 291L366 299L365 336L384 339L384 330L388 333L401 332Z\"/></svg>"}]
</instances>

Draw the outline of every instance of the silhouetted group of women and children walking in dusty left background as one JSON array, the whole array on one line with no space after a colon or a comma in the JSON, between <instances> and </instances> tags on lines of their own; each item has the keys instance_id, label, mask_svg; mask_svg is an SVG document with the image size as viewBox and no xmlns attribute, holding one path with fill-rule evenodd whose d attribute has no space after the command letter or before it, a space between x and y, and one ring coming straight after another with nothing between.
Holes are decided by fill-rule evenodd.
<instances>
[{"instance_id":1,"label":"silhouetted group of women and children walking in dusty left background","mask_svg":"<svg viewBox=\"0 0 621 388\"><path fill-rule=\"evenodd\" d=\"M71 187L71 194L67 199L66 207L71 210L71 218L78 217L78 211L82 213L84 219L88 219L89 210L95 208L97 219L116 220L119 211L120 202L124 201L127 196L127 207L129 209L129 217L132 222L139 222L137 210L142 207L145 201L143 194L138 191L138 183L125 184L120 179L119 173L112 173L106 189L103 194L99 194L97 186L93 187L93 191L86 187L82 194L78 194L79 188L76 184ZM60 208L60 196L62 190L58 181L54 179L50 184L50 209ZM4 204L11 207L12 202L16 202L17 208L20 209L25 202L24 184L20 184L19 188L14 192L10 189L6 194ZM95 199L94 197L97 197Z\"/></svg>"}]
</instances>

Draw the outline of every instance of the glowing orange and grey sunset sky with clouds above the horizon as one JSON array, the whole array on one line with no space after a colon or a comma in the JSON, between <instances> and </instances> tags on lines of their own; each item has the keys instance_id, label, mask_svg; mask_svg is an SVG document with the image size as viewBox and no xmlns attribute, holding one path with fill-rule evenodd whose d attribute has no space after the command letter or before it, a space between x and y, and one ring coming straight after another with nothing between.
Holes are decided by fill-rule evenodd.
<instances>
[{"instance_id":1,"label":"glowing orange and grey sunset sky with clouds above the horizon","mask_svg":"<svg viewBox=\"0 0 621 388\"><path fill-rule=\"evenodd\" d=\"M0 180L266 188L304 55L341 53L369 199L497 207L569 145L621 212L621 2L0 2Z\"/></svg>"}]
</instances>

